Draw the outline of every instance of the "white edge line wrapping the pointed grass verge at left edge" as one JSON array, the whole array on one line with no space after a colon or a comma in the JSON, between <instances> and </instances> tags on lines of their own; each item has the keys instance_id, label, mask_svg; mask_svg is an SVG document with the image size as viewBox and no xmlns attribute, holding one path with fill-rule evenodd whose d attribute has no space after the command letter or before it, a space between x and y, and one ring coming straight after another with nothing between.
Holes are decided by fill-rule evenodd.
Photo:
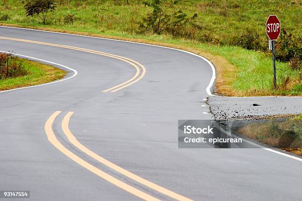
<instances>
[{"instance_id":1,"label":"white edge line wrapping the pointed grass verge at left edge","mask_svg":"<svg viewBox=\"0 0 302 201\"><path fill-rule=\"evenodd\" d=\"M15 53L11 53L11 52L5 52L5 51L0 51L0 52L2 52L2 53L8 53L8 54L13 54L13 55L16 55L16 56L20 56L20 57L24 57L24 58L29 58L29 59L33 59L33 60L36 60L36 61L41 61L41 62L49 63L49 64L53 64L53 65L56 65L56 66L67 68L67 69L72 70L74 72L74 74L72 76L64 78L64 79L60 79L60 80L57 80L57 81L48 82L48 83L39 84L39 85L34 85L34 86L21 87L21 88L16 88L16 89L10 89L10 90L5 90L5 91L0 91L0 93L14 91L14 90L20 90L20 89L26 89L26 88L32 88L32 87L39 87L39 86L48 85L48 84L54 84L54 83L57 83L57 82L62 82L62 81L71 79L71 78L73 78L73 77L75 77L77 75L77 71L75 69L71 68L71 67L63 66L63 65L60 65L60 64L57 64L57 63L49 62L49 61L38 59L38 58L35 58L35 57L29 57L29 56L26 56L26 55L20 55L20 54L15 54Z\"/></svg>"}]
</instances>

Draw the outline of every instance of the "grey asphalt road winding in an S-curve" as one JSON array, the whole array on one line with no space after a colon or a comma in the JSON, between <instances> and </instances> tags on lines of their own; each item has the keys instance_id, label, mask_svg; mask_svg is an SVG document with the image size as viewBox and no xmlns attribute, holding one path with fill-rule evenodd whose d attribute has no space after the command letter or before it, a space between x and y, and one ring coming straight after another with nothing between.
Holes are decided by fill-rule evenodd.
<instances>
[{"instance_id":1,"label":"grey asphalt road winding in an S-curve","mask_svg":"<svg viewBox=\"0 0 302 201\"><path fill-rule=\"evenodd\" d=\"M213 118L209 107L202 106L212 77L203 59L162 47L60 33L0 27L0 36L110 53L146 67L136 83L104 93L130 79L136 68L91 52L0 39L0 51L77 71L62 82L0 93L0 190L30 190L33 201L132 201L147 194L159 200L301 200L301 161L264 149L178 149L179 119ZM170 191L143 185L72 144L61 126L68 123L68 114L70 132L79 143ZM122 184L114 185L108 175ZM129 193L133 189L127 185L138 192Z\"/></svg>"}]
</instances>

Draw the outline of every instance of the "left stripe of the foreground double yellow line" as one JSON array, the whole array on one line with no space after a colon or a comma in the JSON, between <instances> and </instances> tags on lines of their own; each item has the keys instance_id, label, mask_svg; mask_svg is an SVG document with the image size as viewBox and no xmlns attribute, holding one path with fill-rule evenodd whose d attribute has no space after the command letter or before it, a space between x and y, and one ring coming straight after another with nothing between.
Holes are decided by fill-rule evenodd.
<instances>
[{"instance_id":1,"label":"left stripe of the foreground double yellow line","mask_svg":"<svg viewBox=\"0 0 302 201\"><path fill-rule=\"evenodd\" d=\"M73 161L75 161L77 164L81 165L82 167L85 167L86 169L88 169L89 171L95 173L96 175L98 175L99 177L105 179L106 181L109 181L110 183L114 184L115 186L143 199L146 201L160 201L128 184L126 184L125 182L122 182L118 179L116 179L115 177L111 176L110 174L107 174L106 172L100 170L99 168L92 166L91 164L87 163L86 161L84 161L83 159L79 158L78 156L76 156L73 152L71 152L70 150L68 150L66 147L64 147L59 140L57 139L57 137L55 136L55 134L53 133L52 130L52 124L55 120L55 118L61 113L61 111L56 111L54 112L46 121L45 123L45 132L47 134L47 138L50 141L50 143L52 145L54 145L58 150L60 150L63 154L65 154L66 156L68 156L70 159L72 159Z\"/></svg>"}]
</instances>

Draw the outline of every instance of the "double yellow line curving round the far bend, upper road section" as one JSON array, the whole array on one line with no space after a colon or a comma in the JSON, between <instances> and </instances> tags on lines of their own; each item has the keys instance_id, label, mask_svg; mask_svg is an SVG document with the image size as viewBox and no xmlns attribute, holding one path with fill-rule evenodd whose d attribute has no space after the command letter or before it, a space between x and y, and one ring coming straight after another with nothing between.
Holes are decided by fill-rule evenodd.
<instances>
[{"instance_id":1,"label":"double yellow line curving round the far bend, upper road section","mask_svg":"<svg viewBox=\"0 0 302 201\"><path fill-rule=\"evenodd\" d=\"M116 92L118 90L121 90L125 87L128 87L134 83L136 83L137 81L139 81L140 79L142 79L145 74L146 74L146 67L144 67L142 64L126 58L126 57L121 57L118 55L113 55L113 54L109 54L109 53L105 53L105 52L99 52L99 51L95 51L95 50L90 50L90 49L85 49L85 48L80 48L80 47L73 47L73 46L68 46L68 45L60 45L60 44L54 44L54 43L47 43L47 42L40 42L40 41L34 41L34 40L25 40L25 39L18 39L18 38L10 38L10 37L1 37L0 39L5 39L5 40L14 40L14 41L20 41L20 42L27 42L27 43L35 43L35 44L40 44L40 45L48 45L48 46L54 46L54 47L62 47L62 48L67 48L67 49L73 49L73 50L78 50L78 51L82 51L82 52L88 52L88 53L92 53L92 54L97 54L97 55L102 55L102 56L106 56L106 57L111 57L114 59L118 59L121 60L123 62L126 62L130 65L132 65L133 67L135 67L136 69L136 73L134 74L133 77L131 77L129 80L118 84L112 88L106 89L102 92Z\"/></svg>"}]
</instances>

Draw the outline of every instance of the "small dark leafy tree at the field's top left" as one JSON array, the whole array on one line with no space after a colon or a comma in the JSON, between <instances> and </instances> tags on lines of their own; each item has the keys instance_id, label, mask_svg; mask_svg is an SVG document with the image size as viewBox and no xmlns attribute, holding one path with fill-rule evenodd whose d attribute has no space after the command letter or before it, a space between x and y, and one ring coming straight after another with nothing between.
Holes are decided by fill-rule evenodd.
<instances>
[{"instance_id":1,"label":"small dark leafy tree at the field's top left","mask_svg":"<svg viewBox=\"0 0 302 201\"><path fill-rule=\"evenodd\" d=\"M24 8L27 16L38 15L45 24L47 13L55 11L56 6L56 0L27 0Z\"/></svg>"}]
</instances>

